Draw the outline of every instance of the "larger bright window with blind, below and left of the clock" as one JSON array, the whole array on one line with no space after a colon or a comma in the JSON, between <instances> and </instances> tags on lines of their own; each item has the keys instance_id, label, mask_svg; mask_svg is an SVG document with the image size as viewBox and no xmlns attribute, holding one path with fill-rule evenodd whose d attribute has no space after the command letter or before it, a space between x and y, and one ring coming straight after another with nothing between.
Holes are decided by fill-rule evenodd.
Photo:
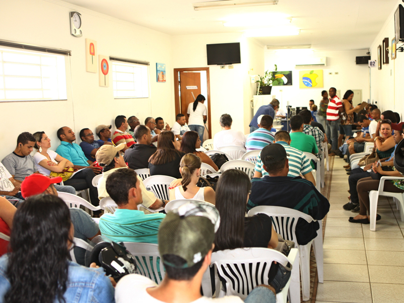
<instances>
[{"instance_id":1,"label":"larger bright window with blind, below and left of the clock","mask_svg":"<svg viewBox=\"0 0 404 303\"><path fill-rule=\"evenodd\" d=\"M65 56L0 47L0 102L66 99Z\"/></svg>"}]
</instances>

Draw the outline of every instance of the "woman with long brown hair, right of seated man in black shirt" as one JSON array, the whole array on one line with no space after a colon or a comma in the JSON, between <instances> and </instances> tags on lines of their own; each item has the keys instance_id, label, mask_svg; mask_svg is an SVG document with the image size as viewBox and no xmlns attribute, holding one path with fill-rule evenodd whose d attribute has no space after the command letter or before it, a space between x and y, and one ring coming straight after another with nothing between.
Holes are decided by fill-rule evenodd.
<instances>
[{"instance_id":1,"label":"woman with long brown hair, right of seated man in black shirt","mask_svg":"<svg viewBox=\"0 0 404 303\"><path fill-rule=\"evenodd\" d=\"M157 151L148 159L150 176L164 175L181 178L179 172L183 151L177 150L179 143L172 131L163 131L157 138Z\"/></svg>"}]
</instances>

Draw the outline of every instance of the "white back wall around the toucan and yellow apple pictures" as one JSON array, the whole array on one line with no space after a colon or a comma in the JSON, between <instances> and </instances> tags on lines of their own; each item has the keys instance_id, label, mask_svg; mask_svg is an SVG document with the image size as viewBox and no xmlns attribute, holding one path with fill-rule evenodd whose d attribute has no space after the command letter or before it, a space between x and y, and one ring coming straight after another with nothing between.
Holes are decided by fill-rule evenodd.
<instances>
[{"instance_id":1,"label":"white back wall around the toucan and yellow apple pictures","mask_svg":"<svg viewBox=\"0 0 404 303\"><path fill-rule=\"evenodd\" d=\"M318 106L320 103L321 91L335 87L341 91L341 96L348 89L362 89L362 100L369 98L369 67L366 64L357 65L357 56L367 56L367 50L360 51L313 51L311 49L296 49L293 51L265 51L265 70L272 71L274 64L278 71L292 71L291 86L273 86L272 94L281 102L283 110L286 110L287 101L292 107L307 107L310 99L315 100ZM327 66L321 68L295 68L297 61L301 58L327 57ZM322 69L324 75L323 88L299 88L299 71ZM338 74L335 74L335 73ZM329 73L332 73L330 75ZM358 102L359 103L359 102Z\"/></svg>"}]
</instances>

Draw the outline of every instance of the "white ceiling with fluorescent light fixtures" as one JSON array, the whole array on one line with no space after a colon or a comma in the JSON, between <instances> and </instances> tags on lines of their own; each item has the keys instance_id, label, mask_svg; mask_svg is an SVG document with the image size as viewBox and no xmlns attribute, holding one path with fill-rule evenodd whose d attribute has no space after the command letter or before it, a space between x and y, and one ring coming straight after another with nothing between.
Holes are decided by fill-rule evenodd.
<instances>
[{"instance_id":1,"label":"white ceiling with fluorescent light fixtures","mask_svg":"<svg viewBox=\"0 0 404 303\"><path fill-rule=\"evenodd\" d=\"M241 32L254 27L224 27L230 19L264 20L269 26L297 27L298 36L257 37L264 45L312 44L319 50L369 48L397 0L279 0L278 5L194 11L205 0L64 0L170 35ZM289 25L271 16L292 17Z\"/></svg>"}]
</instances>

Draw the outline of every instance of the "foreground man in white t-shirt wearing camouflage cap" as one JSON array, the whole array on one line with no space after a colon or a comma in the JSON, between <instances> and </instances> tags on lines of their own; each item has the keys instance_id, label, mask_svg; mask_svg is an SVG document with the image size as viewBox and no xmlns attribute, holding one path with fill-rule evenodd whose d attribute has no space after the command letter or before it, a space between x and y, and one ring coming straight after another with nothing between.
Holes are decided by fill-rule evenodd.
<instances>
[{"instance_id":1,"label":"foreground man in white t-shirt wearing camouflage cap","mask_svg":"<svg viewBox=\"0 0 404 303\"><path fill-rule=\"evenodd\" d=\"M214 205L192 201L169 212L160 224L158 240L166 275L159 285L150 279L130 274L115 288L117 303L183 302L242 303L238 296L212 299L200 294L205 271L211 265L213 241L219 228L219 212ZM136 294L136 295L133 295ZM275 303L271 286L259 285L244 302Z\"/></svg>"}]
</instances>

